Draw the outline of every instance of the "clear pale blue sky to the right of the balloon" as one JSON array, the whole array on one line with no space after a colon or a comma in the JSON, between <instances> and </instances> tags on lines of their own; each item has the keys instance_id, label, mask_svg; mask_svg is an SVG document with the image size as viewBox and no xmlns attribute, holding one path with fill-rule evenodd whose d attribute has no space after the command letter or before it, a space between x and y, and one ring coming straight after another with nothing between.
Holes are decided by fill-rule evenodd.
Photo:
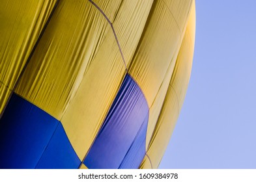
<instances>
[{"instance_id":1,"label":"clear pale blue sky to the right of the balloon","mask_svg":"<svg viewBox=\"0 0 256 182\"><path fill-rule=\"evenodd\" d=\"M192 75L159 168L256 168L256 1L195 6Z\"/></svg>"}]
</instances>

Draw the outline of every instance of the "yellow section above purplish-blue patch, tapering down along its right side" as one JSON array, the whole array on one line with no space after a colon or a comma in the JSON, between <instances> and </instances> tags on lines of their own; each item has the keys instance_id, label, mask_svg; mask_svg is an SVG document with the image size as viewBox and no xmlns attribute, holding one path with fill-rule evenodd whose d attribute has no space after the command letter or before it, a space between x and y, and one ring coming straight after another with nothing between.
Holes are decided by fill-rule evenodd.
<instances>
[{"instance_id":1,"label":"yellow section above purplish-blue patch, tapering down along its right side","mask_svg":"<svg viewBox=\"0 0 256 182\"><path fill-rule=\"evenodd\" d=\"M177 54L192 1L154 1L128 72L141 87L150 107L146 148L149 144Z\"/></svg>"}]
</instances>

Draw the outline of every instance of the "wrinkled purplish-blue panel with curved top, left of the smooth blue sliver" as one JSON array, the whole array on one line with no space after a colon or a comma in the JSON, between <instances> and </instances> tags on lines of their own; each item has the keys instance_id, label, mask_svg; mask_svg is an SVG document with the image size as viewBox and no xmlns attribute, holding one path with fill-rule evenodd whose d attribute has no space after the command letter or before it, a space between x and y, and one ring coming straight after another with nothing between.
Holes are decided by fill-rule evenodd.
<instances>
[{"instance_id":1,"label":"wrinkled purplish-blue panel with curved top, left of the smooth blue sliver","mask_svg":"<svg viewBox=\"0 0 256 182\"><path fill-rule=\"evenodd\" d=\"M85 166L88 168L119 168L129 153L129 149L131 153L128 155L137 153L135 146L132 146L132 144L137 144L135 140L146 138L145 132L142 131L141 136L136 136L143 122L145 120L148 122L148 117L147 101L137 83L127 74L98 136L85 157Z\"/></svg>"}]
</instances>

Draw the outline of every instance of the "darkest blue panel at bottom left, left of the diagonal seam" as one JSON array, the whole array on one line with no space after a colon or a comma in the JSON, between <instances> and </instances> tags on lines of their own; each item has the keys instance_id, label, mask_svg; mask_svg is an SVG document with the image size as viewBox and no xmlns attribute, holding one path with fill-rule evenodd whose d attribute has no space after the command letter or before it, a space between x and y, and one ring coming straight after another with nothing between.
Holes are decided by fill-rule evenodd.
<instances>
[{"instance_id":1,"label":"darkest blue panel at bottom left, left of the diagonal seam","mask_svg":"<svg viewBox=\"0 0 256 182\"><path fill-rule=\"evenodd\" d=\"M35 168L58 123L13 94L0 120L0 168Z\"/></svg>"}]
</instances>

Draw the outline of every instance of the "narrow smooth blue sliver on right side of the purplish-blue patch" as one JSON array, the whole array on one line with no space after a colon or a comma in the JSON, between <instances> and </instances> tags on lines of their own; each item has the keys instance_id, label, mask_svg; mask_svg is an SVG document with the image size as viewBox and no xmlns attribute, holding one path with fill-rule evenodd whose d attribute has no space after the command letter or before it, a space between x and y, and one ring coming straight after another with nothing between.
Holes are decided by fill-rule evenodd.
<instances>
[{"instance_id":1,"label":"narrow smooth blue sliver on right side of the purplish-blue patch","mask_svg":"<svg viewBox=\"0 0 256 182\"><path fill-rule=\"evenodd\" d=\"M141 125L141 129L137 133L132 146L126 153L124 160L122 161L121 165L119 166L120 169L137 169L141 164L145 156L145 148L146 148L146 135L147 135L147 124L149 118L147 117L143 125Z\"/></svg>"}]
</instances>

